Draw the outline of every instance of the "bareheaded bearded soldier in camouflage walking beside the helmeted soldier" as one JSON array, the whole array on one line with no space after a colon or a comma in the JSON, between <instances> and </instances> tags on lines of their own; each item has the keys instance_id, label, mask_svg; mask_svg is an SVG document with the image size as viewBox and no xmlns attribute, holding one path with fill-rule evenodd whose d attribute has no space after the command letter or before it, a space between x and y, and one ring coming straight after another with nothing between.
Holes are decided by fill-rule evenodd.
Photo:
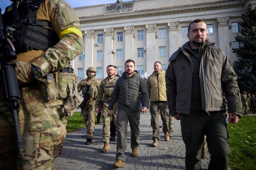
<instances>
[{"instance_id":1,"label":"bareheaded bearded soldier in camouflage walking beside the helmeted soldier","mask_svg":"<svg viewBox=\"0 0 256 170\"><path fill-rule=\"evenodd\" d=\"M101 111L102 121L103 121L103 129L102 129L102 136L104 141L104 146L101 149L101 152L107 152L110 150L109 146L109 139L110 139L110 119L111 115L108 114L108 104L112 95L112 92L114 90L114 87L116 85L116 81L118 77L114 75L115 68L113 65L107 66L107 77L101 81L100 87L98 88L98 94L96 96L96 102L95 102L95 111L99 113L99 103L100 101L103 102L103 107ZM116 125L116 118L117 118L117 102L115 104L116 108L113 109L112 112L112 123Z\"/></svg>"}]
</instances>

